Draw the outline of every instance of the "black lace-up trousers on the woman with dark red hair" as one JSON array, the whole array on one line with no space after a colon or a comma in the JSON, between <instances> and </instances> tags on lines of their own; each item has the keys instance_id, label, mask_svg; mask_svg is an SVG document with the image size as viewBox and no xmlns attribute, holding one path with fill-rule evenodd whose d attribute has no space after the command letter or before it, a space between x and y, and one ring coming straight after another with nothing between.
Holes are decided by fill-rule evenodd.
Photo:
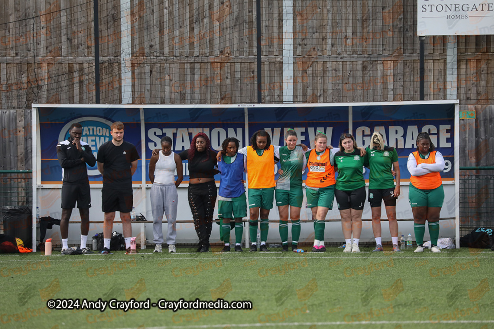
<instances>
[{"instance_id":1,"label":"black lace-up trousers on the woman with dark red hair","mask_svg":"<svg viewBox=\"0 0 494 329\"><path fill-rule=\"evenodd\" d=\"M189 184L188 190L189 206L194 219L194 228L199 238L199 247L209 248L209 237L213 225L214 204L218 192L214 181Z\"/></svg>"}]
</instances>

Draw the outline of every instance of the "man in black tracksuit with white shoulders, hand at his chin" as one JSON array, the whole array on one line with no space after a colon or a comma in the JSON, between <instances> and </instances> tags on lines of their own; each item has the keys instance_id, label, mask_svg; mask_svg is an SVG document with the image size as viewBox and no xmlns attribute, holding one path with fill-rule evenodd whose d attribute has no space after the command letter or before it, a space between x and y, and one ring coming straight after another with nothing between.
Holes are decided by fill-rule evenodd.
<instances>
[{"instance_id":1,"label":"man in black tracksuit with white shoulders, hand at his chin","mask_svg":"<svg viewBox=\"0 0 494 329\"><path fill-rule=\"evenodd\" d=\"M69 235L69 219L72 209L79 208L81 215L81 250L83 254L92 254L86 247L89 233L89 208L91 207L91 191L87 177L87 165L96 164L91 147L81 141L82 126L73 123L69 128L70 137L57 144L58 162L62 166L62 219L60 233L62 235L62 254L71 254L67 240Z\"/></svg>"}]
</instances>

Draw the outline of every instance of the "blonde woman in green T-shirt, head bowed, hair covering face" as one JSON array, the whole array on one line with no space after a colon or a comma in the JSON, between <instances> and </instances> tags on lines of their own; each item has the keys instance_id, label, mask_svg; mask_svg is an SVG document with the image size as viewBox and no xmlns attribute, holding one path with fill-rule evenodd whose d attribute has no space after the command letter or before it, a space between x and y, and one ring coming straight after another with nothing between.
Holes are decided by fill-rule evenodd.
<instances>
[{"instance_id":1,"label":"blonde woman in green T-shirt, head bowed, hair covering face","mask_svg":"<svg viewBox=\"0 0 494 329\"><path fill-rule=\"evenodd\" d=\"M398 222L396 221L396 199L400 195L400 166L396 149L384 145L381 133L375 132L371 145L366 149L369 161L369 198L367 201L372 209L372 231L374 232L375 252L383 251L381 237L381 204L384 201L388 216L389 232L393 243L393 251L401 251L398 247ZM396 186L391 172L396 172Z\"/></svg>"}]
</instances>

